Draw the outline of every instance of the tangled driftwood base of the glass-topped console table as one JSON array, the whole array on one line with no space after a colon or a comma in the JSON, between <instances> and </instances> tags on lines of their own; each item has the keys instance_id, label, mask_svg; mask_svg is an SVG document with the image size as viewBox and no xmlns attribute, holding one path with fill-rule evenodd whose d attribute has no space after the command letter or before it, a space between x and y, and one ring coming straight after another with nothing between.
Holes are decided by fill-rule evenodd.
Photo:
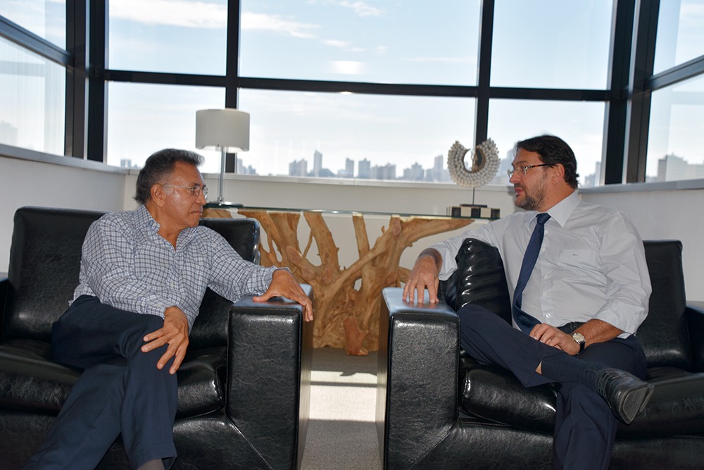
<instances>
[{"instance_id":1,"label":"tangled driftwood base of the glass-topped console table","mask_svg":"<svg viewBox=\"0 0 704 470\"><path fill-rule=\"evenodd\" d=\"M212 210L206 209L203 216L224 216L210 212ZM363 215L353 213L358 259L351 266L341 268L337 256L339 248L322 212L263 209L237 209L237 212L259 221L267 234L268 246L260 247L263 266L287 266L299 282L313 287L313 347L345 348L353 355L378 350L382 289L400 286L410 273L408 268L399 266L403 250L422 237L473 222L469 218L390 216L389 224L382 227L382 234L370 246ZM301 214L310 228L303 249L298 242ZM310 261L313 242L318 247L319 264Z\"/></svg>"}]
</instances>

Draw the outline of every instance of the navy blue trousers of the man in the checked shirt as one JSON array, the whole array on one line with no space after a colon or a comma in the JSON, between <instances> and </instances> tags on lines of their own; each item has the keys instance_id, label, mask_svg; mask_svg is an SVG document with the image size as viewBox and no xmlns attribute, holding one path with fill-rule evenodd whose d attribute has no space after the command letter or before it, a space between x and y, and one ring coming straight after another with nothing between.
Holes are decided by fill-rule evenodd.
<instances>
[{"instance_id":1,"label":"navy blue trousers of the man in the checked shirt","mask_svg":"<svg viewBox=\"0 0 704 470\"><path fill-rule=\"evenodd\" d=\"M168 372L172 360L156 368L165 345L140 350L163 322L96 297L71 304L54 323L52 352L61 364L85 370L25 469L94 469L120 433L132 469L153 459L170 466L177 379Z\"/></svg>"}]
</instances>

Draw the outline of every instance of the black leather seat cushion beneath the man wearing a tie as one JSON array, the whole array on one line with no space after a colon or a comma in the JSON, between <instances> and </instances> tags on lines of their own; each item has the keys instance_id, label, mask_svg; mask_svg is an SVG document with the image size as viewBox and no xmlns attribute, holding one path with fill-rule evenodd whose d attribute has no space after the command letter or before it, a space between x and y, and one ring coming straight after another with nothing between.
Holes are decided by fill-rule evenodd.
<instances>
[{"instance_id":1,"label":"black leather seat cushion beneath the man wearing a tie","mask_svg":"<svg viewBox=\"0 0 704 470\"><path fill-rule=\"evenodd\" d=\"M469 358L463 358L463 371L463 412L529 431L553 432L557 385L524 388L509 371ZM704 433L704 373L658 367L648 369L647 380L655 385L653 397L633 423L619 423L618 438Z\"/></svg>"}]
</instances>

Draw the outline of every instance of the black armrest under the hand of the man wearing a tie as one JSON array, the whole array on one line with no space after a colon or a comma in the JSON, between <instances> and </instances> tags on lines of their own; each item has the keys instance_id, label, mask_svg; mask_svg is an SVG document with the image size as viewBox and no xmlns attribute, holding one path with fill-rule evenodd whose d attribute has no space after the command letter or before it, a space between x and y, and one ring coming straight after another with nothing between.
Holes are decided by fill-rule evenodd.
<instances>
[{"instance_id":1,"label":"black armrest under the hand of the man wearing a tie","mask_svg":"<svg viewBox=\"0 0 704 470\"><path fill-rule=\"evenodd\" d=\"M410 468L458 421L459 318L444 302L382 292L377 435L384 468Z\"/></svg>"}]
</instances>

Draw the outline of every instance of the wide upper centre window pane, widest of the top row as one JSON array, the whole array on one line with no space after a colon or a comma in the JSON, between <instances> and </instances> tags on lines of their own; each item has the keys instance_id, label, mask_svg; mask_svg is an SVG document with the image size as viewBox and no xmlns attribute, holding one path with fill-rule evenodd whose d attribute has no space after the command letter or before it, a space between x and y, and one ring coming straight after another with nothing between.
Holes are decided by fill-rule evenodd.
<instances>
[{"instance_id":1,"label":"wide upper centre window pane, widest of the top row","mask_svg":"<svg viewBox=\"0 0 704 470\"><path fill-rule=\"evenodd\" d=\"M479 0L242 0L246 77L474 85Z\"/></svg>"}]
</instances>

